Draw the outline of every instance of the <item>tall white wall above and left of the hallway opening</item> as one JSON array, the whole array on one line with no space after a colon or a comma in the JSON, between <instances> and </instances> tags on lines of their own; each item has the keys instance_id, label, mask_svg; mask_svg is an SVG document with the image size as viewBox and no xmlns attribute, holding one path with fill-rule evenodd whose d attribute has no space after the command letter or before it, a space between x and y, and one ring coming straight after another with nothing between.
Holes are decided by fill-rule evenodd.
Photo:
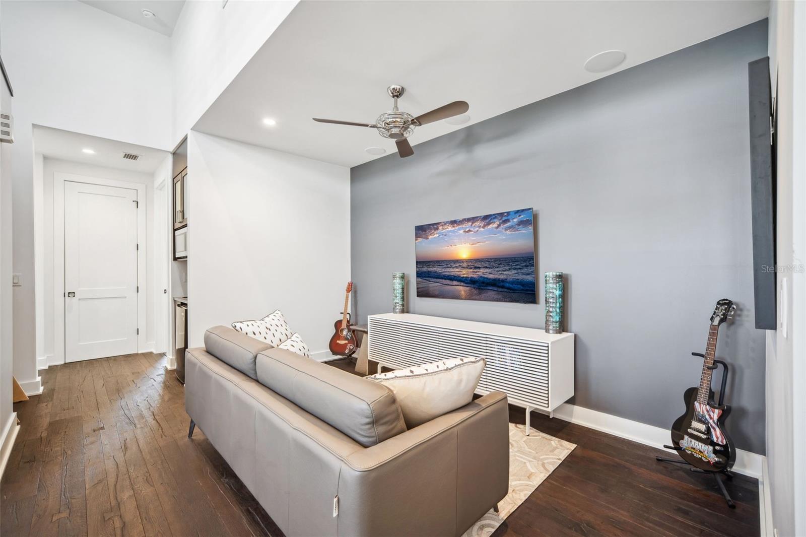
<instances>
[{"instance_id":1,"label":"tall white wall above and left of the hallway opening","mask_svg":"<svg viewBox=\"0 0 806 537\"><path fill-rule=\"evenodd\" d=\"M171 51L168 37L76 0L2 2L0 36L15 89L14 373L27 387L38 383L32 125L170 150Z\"/></svg>"}]
</instances>

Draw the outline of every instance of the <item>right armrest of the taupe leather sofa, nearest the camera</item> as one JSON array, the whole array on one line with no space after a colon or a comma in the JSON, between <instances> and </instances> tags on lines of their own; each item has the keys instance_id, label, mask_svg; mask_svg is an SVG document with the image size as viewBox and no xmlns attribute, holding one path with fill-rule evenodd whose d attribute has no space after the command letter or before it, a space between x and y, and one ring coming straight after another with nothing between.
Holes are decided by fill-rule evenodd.
<instances>
[{"instance_id":1,"label":"right armrest of the taupe leather sofa, nearest the camera","mask_svg":"<svg viewBox=\"0 0 806 537\"><path fill-rule=\"evenodd\" d=\"M462 535L509 491L506 395L488 393L345 463L340 535Z\"/></svg>"}]
</instances>

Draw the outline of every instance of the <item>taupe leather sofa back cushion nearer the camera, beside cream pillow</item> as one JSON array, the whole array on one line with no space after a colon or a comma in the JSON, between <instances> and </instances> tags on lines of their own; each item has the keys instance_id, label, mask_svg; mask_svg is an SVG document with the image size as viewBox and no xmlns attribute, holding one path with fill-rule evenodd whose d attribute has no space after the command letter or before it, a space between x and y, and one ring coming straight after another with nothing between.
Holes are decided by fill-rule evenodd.
<instances>
[{"instance_id":1,"label":"taupe leather sofa back cushion nearer the camera, beside cream pillow","mask_svg":"<svg viewBox=\"0 0 806 537\"><path fill-rule=\"evenodd\" d=\"M257 379L365 448L406 430L391 390L294 352L260 352Z\"/></svg>"}]
</instances>

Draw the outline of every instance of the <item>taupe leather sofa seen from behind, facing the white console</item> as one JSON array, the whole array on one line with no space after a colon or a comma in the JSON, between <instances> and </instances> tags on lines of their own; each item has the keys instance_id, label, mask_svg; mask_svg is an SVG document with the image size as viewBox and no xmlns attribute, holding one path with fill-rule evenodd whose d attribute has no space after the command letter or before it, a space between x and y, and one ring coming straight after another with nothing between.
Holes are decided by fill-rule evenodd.
<instances>
[{"instance_id":1,"label":"taupe leather sofa seen from behind, facing the white console","mask_svg":"<svg viewBox=\"0 0 806 537\"><path fill-rule=\"evenodd\" d=\"M384 385L214 327L185 406L289 536L462 535L509 488L504 393L406 430Z\"/></svg>"}]
</instances>

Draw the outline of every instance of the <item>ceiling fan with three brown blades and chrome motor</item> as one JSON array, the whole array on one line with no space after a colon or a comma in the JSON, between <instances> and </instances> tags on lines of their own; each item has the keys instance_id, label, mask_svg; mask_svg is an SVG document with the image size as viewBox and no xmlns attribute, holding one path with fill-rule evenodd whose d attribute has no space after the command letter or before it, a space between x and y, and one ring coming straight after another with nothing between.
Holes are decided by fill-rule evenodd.
<instances>
[{"instance_id":1,"label":"ceiling fan with three brown blades and chrome motor","mask_svg":"<svg viewBox=\"0 0 806 537\"><path fill-rule=\"evenodd\" d=\"M409 144L410 135L414 131L414 127L422 127L428 123L434 123L440 119L452 118L455 115L464 114L470 106L464 101L454 101L445 106L440 106L435 110L420 114L414 117L408 112L401 112L397 109L397 99L401 98L405 88L402 85L390 85L386 91L389 96L394 99L394 106L391 112L384 112L378 116L375 123L355 123L352 121L339 121L337 119L321 119L314 118L314 121L319 123L336 123L337 125L352 125L353 127L369 127L376 129L378 134L384 138L391 138L397 144L397 154L401 158L412 156L414 150Z\"/></svg>"}]
</instances>

